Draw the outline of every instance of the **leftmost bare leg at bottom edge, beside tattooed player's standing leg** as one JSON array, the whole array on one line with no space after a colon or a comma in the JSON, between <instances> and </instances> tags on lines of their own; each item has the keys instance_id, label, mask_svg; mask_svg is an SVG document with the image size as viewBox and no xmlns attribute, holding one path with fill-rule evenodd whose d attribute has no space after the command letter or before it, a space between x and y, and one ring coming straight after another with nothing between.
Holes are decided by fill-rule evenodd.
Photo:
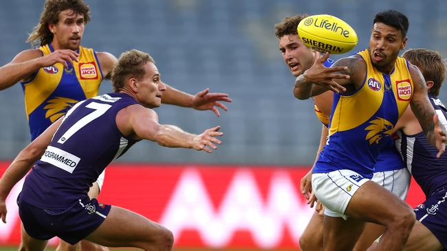
<instances>
[{"instance_id":1,"label":"leftmost bare leg at bottom edge, beside tattooed player's standing leg","mask_svg":"<svg viewBox=\"0 0 447 251\"><path fill-rule=\"evenodd\" d=\"M300 247L303 251L323 250L323 216L316 211L300 237Z\"/></svg>"}]
</instances>

